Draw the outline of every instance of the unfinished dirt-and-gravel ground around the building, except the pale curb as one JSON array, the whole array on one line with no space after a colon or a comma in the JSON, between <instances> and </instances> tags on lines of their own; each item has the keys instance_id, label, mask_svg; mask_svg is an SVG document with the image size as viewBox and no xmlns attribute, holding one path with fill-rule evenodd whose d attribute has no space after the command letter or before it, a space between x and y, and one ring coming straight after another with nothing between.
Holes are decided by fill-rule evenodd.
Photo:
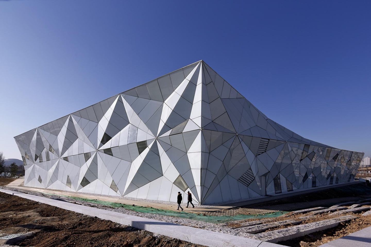
<instances>
[{"instance_id":1,"label":"unfinished dirt-and-gravel ground around the building, except the pale curb","mask_svg":"<svg viewBox=\"0 0 371 247\"><path fill-rule=\"evenodd\" d=\"M22 179L0 178L0 189L14 193L0 192L0 246L5 243L18 246L202 246L22 198L17 193L283 246L316 247L326 243L331 246L330 241L371 226L370 183L351 183L291 197L266 197L224 206L196 205L184 211L177 211L175 203L29 188L22 186ZM7 236L23 238L11 243ZM371 246L371 241L364 246Z\"/></svg>"}]
</instances>

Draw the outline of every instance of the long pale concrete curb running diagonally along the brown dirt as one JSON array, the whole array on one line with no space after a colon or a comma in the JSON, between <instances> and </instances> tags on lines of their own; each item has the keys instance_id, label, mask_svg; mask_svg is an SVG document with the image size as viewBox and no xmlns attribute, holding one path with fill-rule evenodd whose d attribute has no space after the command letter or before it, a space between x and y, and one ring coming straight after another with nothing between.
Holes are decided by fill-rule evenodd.
<instances>
[{"instance_id":1,"label":"long pale concrete curb running diagonally along the brown dirt","mask_svg":"<svg viewBox=\"0 0 371 247\"><path fill-rule=\"evenodd\" d=\"M88 206L73 204L66 201L59 201L50 198L24 194L17 191L5 190L1 188L0 191L29 200L38 201L40 203L49 204L51 206L63 208L69 211L74 211L76 213L98 217L103 220L111 220L119 224L132 226L138 229L150 231L152 233L157 233L172 238L178 238L180 240L184 240L193 244L202 244L204 246L210 247L282 247L282 245L279 244L267 243L252 238L233 236L230 234L217 233L214 231L182 226L174 223L152 220L99 208L91 208Z\"/></svg>"}]
</instances>

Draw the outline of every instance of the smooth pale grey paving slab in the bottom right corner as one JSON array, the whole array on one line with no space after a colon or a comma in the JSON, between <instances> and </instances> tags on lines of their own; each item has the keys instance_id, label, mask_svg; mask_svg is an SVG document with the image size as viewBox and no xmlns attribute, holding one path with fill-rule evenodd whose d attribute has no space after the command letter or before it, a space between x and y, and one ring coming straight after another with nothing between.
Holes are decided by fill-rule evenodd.
<instances>
[{"instance_id":1,"label":"smooth pale grey paving slab in the bottom right corner","mask_svg":"<svg viewBox=\"0 0 371 247\"><path fill-rule=\"evenodd\" d=\"M347 236L335 239L320 247L370 247L371 246L371 227L351 233Z\"/></svg>"}]
</instances>

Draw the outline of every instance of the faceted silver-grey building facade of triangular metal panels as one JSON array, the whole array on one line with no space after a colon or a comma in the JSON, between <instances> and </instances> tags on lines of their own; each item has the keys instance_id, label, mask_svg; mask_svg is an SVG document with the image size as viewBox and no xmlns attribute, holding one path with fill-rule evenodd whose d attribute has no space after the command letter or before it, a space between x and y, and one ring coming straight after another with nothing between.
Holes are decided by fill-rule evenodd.
<instances>
[{"instance_id":1,"label":"faceted silver-grey building facade of triangular metal panels","mask_svg":"<svg viewBox=\"0 0 371 247\"><path fill-rule=\"evenodd\" d=\"M199 204L352 181L363 157L270 120L204 61L14 138L25 186Z\"/></svg>"}]
</instances>

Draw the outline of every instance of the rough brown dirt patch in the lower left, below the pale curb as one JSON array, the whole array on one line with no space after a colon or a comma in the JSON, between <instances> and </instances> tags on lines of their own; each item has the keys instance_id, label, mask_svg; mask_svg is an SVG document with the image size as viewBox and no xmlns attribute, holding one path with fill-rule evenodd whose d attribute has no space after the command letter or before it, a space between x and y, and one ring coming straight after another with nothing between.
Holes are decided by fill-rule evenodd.
<instances>
[{"instance_id":1,"label":"rough brown dirt patch in the lower left, below the pale curb","mask_svg":"<svg viewBox=\"0 0 371 247\"><path fill-rule=\"evenodd\" d=\"M30 231L19 246L200 246L0 192L0 233Z\"/></svg>"}]
</instances>

